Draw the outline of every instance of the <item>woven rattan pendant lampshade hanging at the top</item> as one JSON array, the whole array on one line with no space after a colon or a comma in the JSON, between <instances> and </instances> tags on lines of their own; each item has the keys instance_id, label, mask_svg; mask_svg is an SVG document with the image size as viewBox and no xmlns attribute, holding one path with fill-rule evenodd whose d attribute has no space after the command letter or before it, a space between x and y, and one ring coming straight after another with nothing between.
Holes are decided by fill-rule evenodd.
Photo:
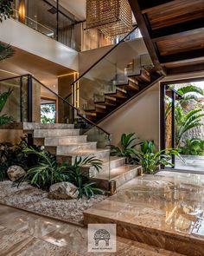
<instances>
[{"instance_id":1,"label":"woven rattan pendant lampshade hanging at the top","mask_svg":"<svg viewBox=\"0 0 204 256\"><path fill-rule=\"evenodd\" d=\"M92 28L109 37L130 32L132 15L128 0L86 0L86 29Z\"/></svg>"}]
</instances>

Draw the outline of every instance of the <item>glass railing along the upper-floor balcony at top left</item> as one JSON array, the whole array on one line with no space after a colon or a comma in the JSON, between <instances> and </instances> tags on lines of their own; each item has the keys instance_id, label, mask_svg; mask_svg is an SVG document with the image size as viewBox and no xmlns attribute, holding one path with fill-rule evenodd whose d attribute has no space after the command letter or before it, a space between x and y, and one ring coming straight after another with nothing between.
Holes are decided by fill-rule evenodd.
<instances>
[{"instance_id":1,"label":"glass railing along the upper-floor balcony at top left","mask_svg":"<svg viewBox=\"0 0 204 256\"><path fill-rule=\"evenodd\" d=\"M74 16L60 3L50 0L17 0L13 3L12 18L72 49L77 49Z\"/></svg>"}]
</instances>

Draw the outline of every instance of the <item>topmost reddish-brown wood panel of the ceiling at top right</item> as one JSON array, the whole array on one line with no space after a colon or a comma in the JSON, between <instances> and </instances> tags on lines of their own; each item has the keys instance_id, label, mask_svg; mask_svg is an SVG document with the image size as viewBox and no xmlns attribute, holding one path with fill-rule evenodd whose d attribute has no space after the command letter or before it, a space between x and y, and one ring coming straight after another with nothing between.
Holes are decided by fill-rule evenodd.
<instances>
[{"instance_id":1,"label":"topmost reddish-brown wood panel of the ceiling at top right","mask_svg":"<svg viewBox=\"0 0 204 256\"><path fill-rule=\"evenodd\" d=\"M203 0L175 0L147 11L152 30L203 18Z\"/></svg>"}]
</instances>

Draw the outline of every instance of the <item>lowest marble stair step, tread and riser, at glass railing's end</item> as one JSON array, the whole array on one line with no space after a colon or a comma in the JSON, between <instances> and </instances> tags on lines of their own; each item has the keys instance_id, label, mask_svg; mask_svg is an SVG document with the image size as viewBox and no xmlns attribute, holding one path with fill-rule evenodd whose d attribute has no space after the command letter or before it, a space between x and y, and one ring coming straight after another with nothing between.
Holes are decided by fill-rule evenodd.
<instances>
[{"instance_id":1,"label":"lowest marble stair step, tread and riser, at glass railing's end","mask_svg":"<svg viewBox=\"0 0 204 256\"><path fill-rule=\"evenodd\" d=\"M109 182L116 181L116 187L124 185L127 181L131 181L138 175L140 166L124 165L112 168L110 171L99 172L91 181L95 181L97 185L105 190L109 190Z\"/></svg>"}]
</instances>

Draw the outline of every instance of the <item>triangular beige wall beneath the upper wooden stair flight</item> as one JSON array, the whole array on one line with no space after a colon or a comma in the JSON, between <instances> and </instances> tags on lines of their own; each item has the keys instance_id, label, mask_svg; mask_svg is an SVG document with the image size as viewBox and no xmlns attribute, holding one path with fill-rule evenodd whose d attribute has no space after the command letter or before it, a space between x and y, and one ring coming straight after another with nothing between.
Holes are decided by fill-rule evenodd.
<instances>
[{"instance_id":1,"label":"triangular beige wall beneath the upper wooden stair flight","mask_svg":"<svg viewBox=\"0 0 204 256\"><path fill-rule=\"evenodd\" d=\"M136 133L142 141L154 140L158 148L160 141L159 88L159 83L156 83L99 124L101 128L112 134L112 144L117 145L123 133Z\"/></svg>"}]
</instances>

